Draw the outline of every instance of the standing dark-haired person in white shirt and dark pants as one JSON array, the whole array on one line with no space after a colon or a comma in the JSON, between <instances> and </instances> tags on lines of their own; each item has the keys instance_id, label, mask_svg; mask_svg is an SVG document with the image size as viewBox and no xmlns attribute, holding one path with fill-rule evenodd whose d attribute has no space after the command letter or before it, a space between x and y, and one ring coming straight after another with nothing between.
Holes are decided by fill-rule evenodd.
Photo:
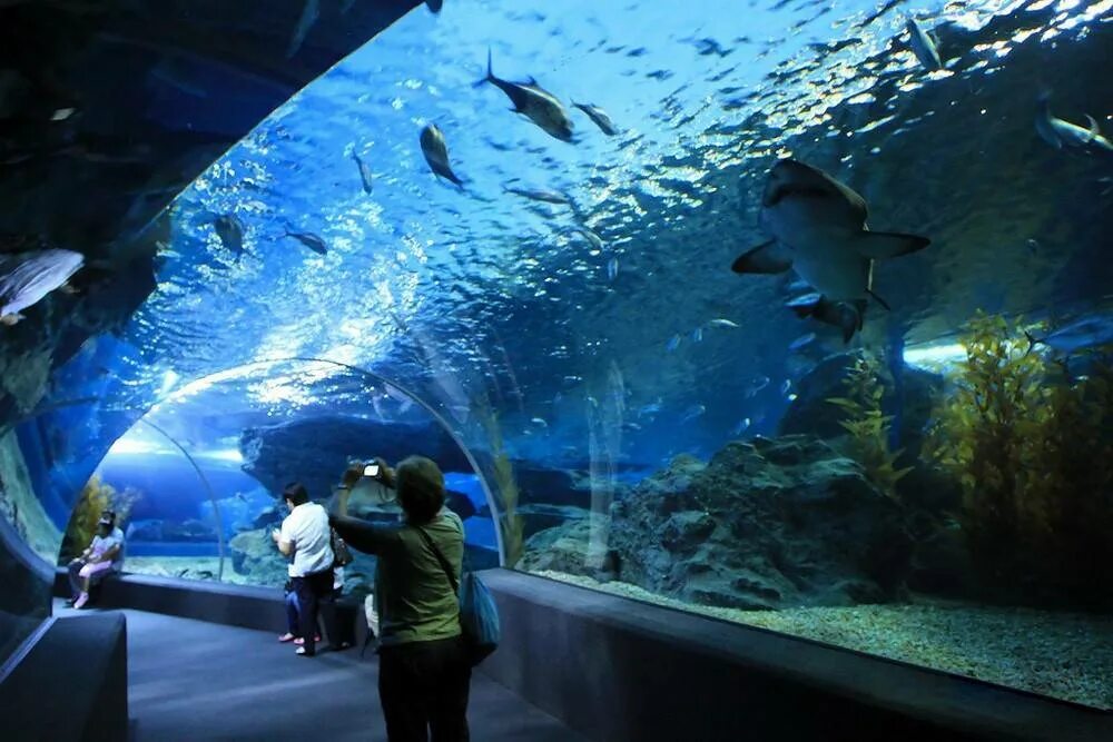
<instances>
[{"instance_id":1,"label":"standing dark-haired person in white shirt and dark pants","mask_svg":"<svg viewBox=\"0 0 1113 742\"><path fill-rule=\"evenodd\" d=\"M316 654L317 612L321 601L333 592L333 546L325 508L309 502L309 493L299 482L286 485L283 497L289 515L282 522L282 530L270 536L278 551L293 556L289 577L297 593L298 619L303 644L295 650L302 656ZM328 641L335 641L335 626L329 626L332 611L324 612Z\"/></svg>"}]
</instances>

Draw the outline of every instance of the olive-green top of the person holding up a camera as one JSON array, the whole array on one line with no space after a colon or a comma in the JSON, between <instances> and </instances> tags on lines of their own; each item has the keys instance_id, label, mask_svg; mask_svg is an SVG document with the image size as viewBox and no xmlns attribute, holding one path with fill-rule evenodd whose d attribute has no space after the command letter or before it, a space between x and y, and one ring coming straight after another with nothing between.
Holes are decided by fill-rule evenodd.
<instances>
[{"instance_id":1,"label":"olive-green top of the person holding up a camera","mask_svg":"<svg viewBox=\"0 0 1113 742\"><path fill-rule=\"evenodd\" d=\"M459 597L415 526L337 515L329 520L348 545L378 557L375 609L383 646L460 635ZM459 585L464 556L464 524L460 516L442 509L422 528L449 561Z\"/></svg>"}]
</instances>

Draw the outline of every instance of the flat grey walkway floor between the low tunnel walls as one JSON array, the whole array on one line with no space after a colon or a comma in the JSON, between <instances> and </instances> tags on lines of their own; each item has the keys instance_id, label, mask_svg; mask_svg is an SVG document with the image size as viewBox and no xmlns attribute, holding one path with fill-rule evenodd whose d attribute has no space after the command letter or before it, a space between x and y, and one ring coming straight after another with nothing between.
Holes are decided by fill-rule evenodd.
<instances>
[{"instance_id":1,"label":"flat grey walkway floor between the low tunnel walls","mask_svg":"<svg viewBox=\"0 0 1113 742\"><path fill-rule=\"evenodd\" d=\"M278 632L124 613L132 740L386 740L371 650L306 660ZM55 602L55 615L73 614ZM482 673L467 720L474 740L585 740Z\"/></svg>"}]
</instances>

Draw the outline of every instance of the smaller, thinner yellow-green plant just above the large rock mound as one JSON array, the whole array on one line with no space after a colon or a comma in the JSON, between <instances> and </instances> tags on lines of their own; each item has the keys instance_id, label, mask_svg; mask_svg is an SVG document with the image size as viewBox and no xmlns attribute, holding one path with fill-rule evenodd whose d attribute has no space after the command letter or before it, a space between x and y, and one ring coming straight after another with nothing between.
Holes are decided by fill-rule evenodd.
<instances>
[{"instance_id":1,"label":"smaller, thinner yellow-green plant just above the large rock mound","mask_svg":"<svg viewBox=\"0 0 1113 742\"><path fill-rule=\"evenodd\" d=\"M829 404L840 407L845 417L839 421L849 434L848 452L861 464L869 481L889 497L896 497L896 485L912 467L897 468L903 448L889 448L893 415L881 410L885 387L878 374L878 363L873 356L860 356L850 366L843 380L845 397L831 397Z\"/></svg>"}]
</instances>

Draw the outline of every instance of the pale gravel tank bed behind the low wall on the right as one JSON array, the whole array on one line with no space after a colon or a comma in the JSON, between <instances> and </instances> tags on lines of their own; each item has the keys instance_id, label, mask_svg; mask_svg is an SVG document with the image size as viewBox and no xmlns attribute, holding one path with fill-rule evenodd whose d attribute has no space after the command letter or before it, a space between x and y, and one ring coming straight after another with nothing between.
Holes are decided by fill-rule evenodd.
<instances>
[{"instance_id":1,"label":"pale gravel tank bed behind the low wall on the right","mask_svg":"<svg viewBox=\"0 0 1113 742\"><path fill-rule=\"evenodd\" d=\"M1113 616L918 601L900 605L741 611L561 572L543 577L761 626L1056 699L1113 709Z\"/></svg>"}]
</instances>

